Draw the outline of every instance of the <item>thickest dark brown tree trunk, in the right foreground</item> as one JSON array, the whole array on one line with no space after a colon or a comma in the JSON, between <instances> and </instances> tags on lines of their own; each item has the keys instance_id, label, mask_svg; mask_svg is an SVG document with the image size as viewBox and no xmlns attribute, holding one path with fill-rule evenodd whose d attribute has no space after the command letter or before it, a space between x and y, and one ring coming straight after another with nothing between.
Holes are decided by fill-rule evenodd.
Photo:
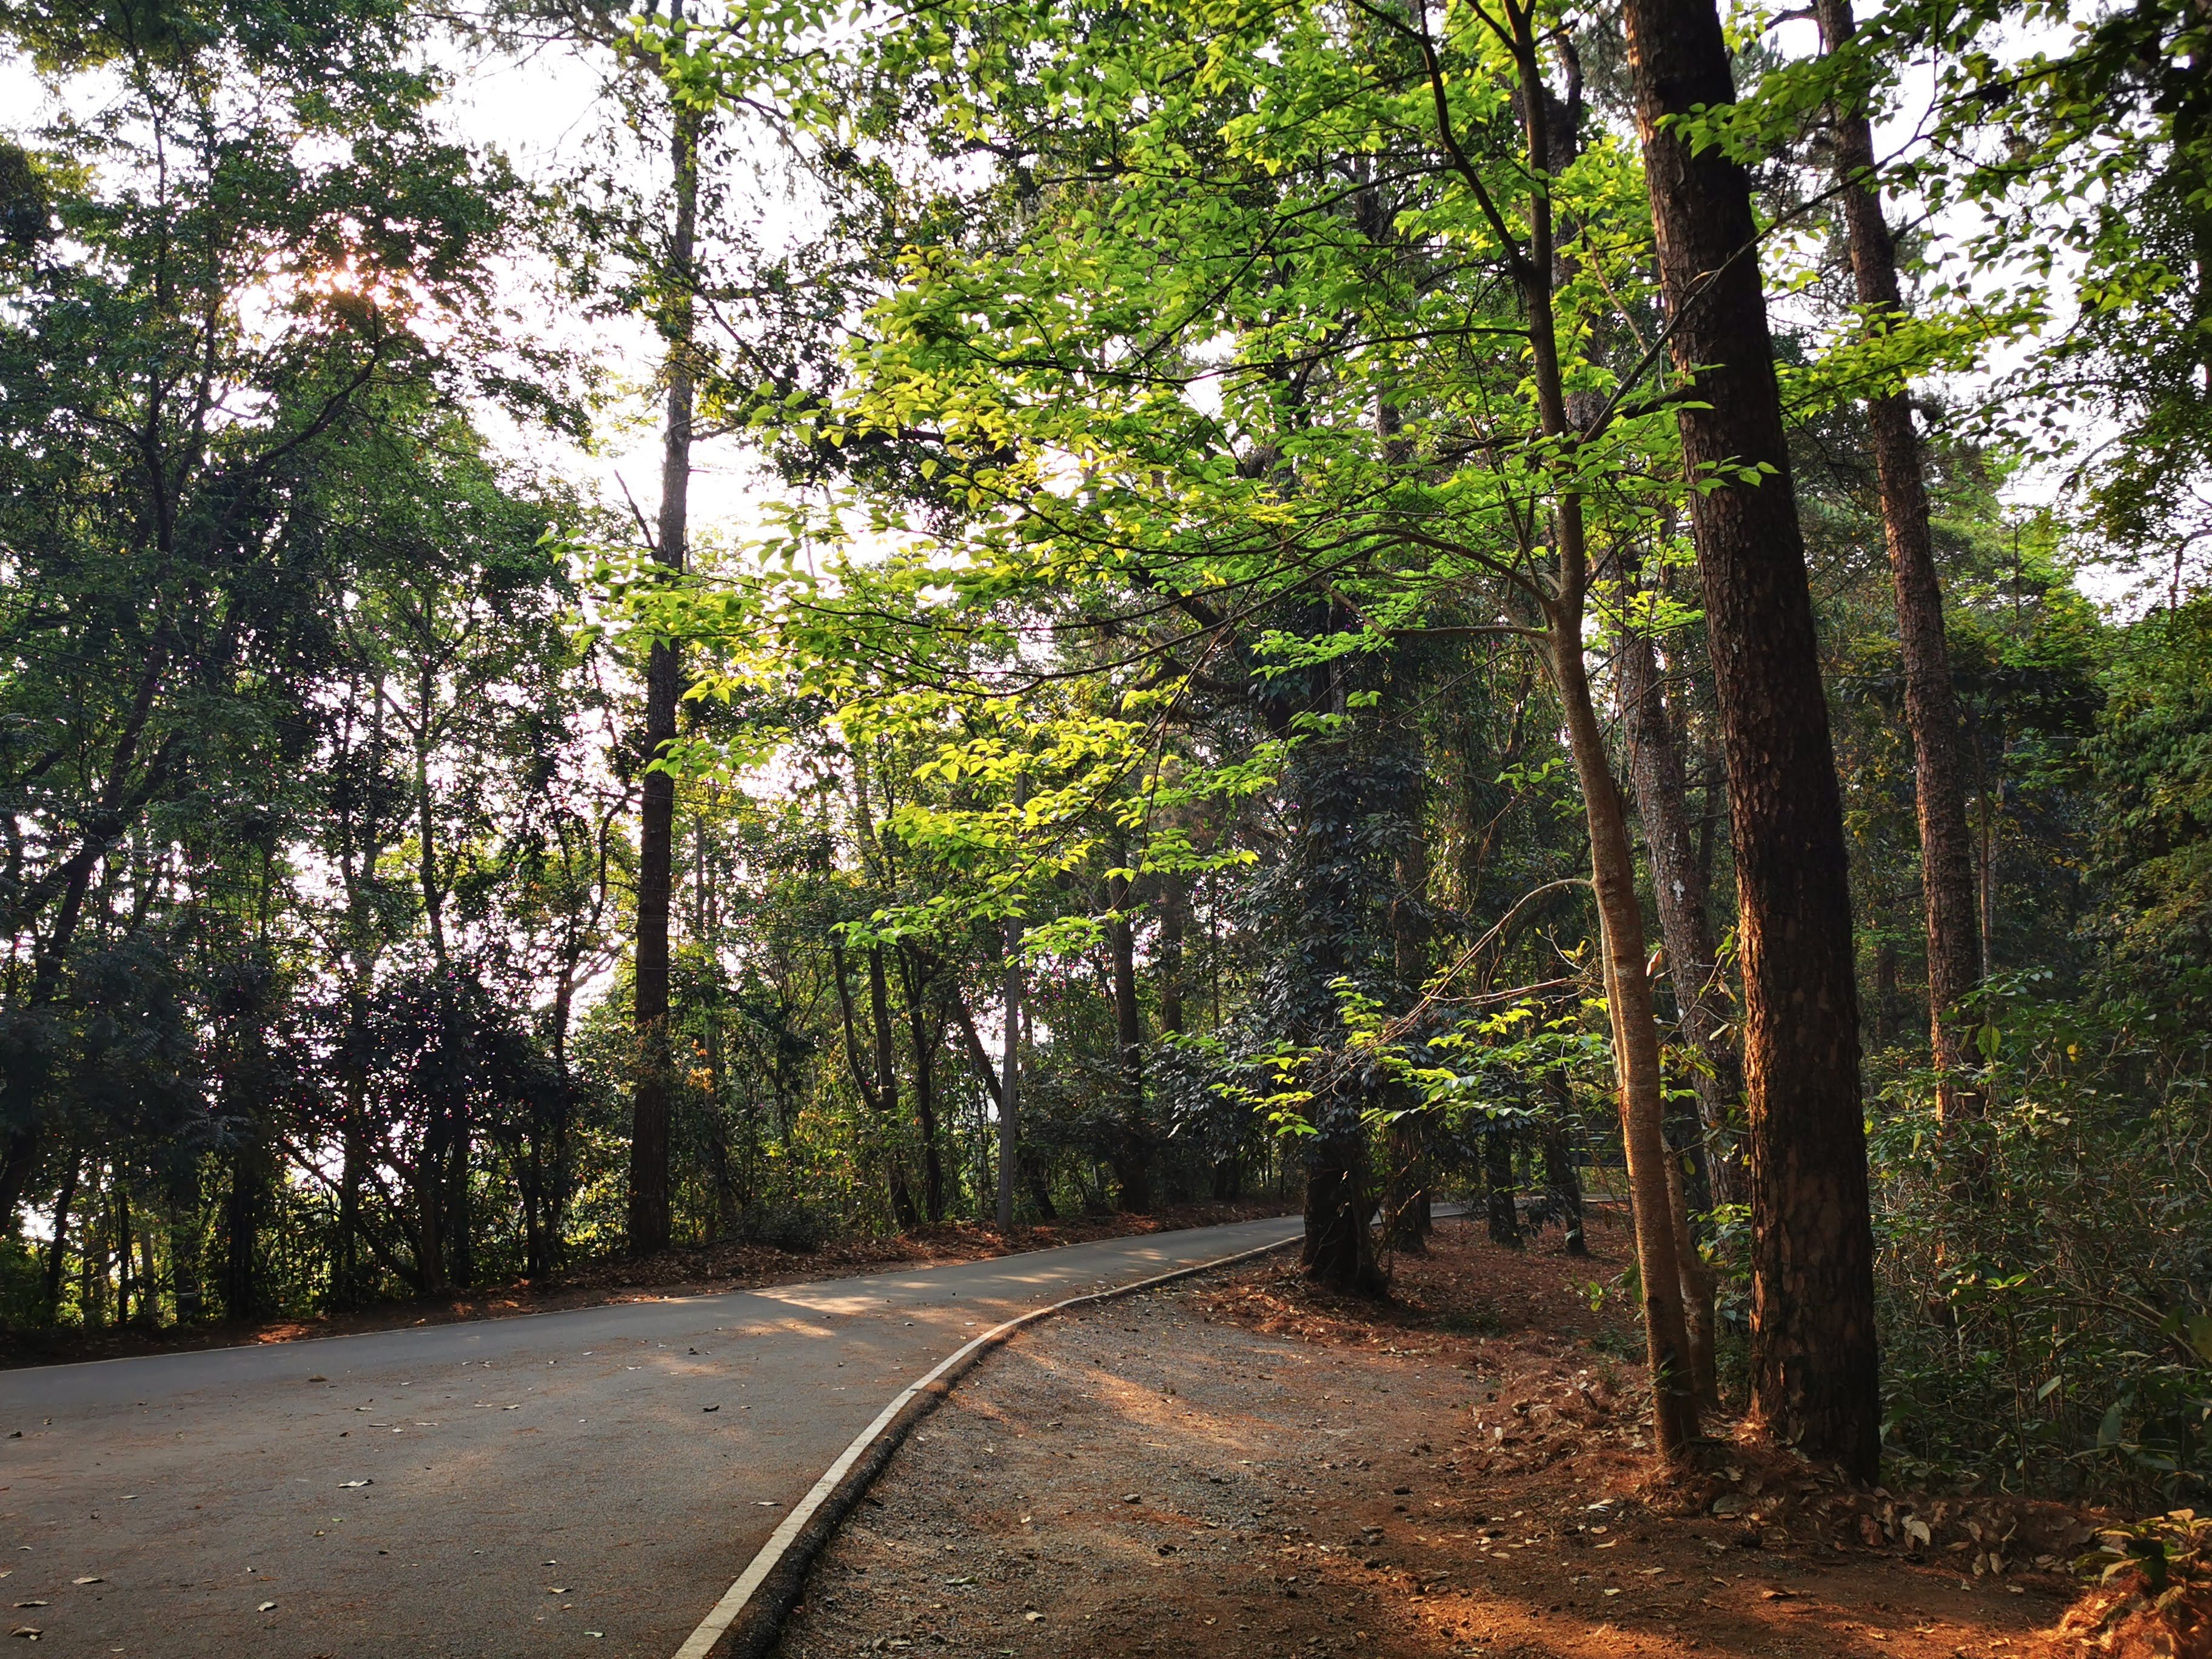
<instances>
[{"instance_id":1,"label":"thickest dark brown tree trunk, in the right foreground","mask_svg":"<svg viewBox=\"0 0 2212 1659\"><path fill-rule=\"evenodd\" d=\"M1880 1462L1874 1232L1836 759L1790 484L1750 179L1674 126L1734 102L1712 0L1628 0L1637 131L1728 750L1752 1130L1752 1407L1767 1433ZM1759 467L1759 484L1717 467ZM1712 484L1710 489L1705 484ZM1641 973L1641 962L1637 964Z\"/></svg>"}]
</instances>

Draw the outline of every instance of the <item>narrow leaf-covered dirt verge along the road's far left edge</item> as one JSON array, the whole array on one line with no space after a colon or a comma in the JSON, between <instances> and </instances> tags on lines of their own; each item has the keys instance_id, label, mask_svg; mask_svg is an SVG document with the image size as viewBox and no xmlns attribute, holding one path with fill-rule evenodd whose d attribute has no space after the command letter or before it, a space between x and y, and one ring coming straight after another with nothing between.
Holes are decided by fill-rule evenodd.
<instances>
[{"instance_id":1,"label":"narrow leaf-covered dirt verge along the road's far left edge","mask_svg":"<svg viewBox=\"0 0 2212 1659\"><path fill-rule=\"evenodd\" d=\"M88 1334L0 1329L0 1369L113 1360L126 1354L170 1354L199 1347L294 1343L303 1336L349 1336L354 1332L451 1325L467 1318L504 1318L509 1314L551 1314L568 1307L785 1285L794 1279L852 1279L883 1267L933 1267L951 1261L982 1261L989 1256L1011 1256L1022 1250L1088 1243L1093 1239L1128 1239L1148 1232L1212 1228L1223 1221L1287 1214L1290 1208L1294 1206L1285 1206L1279 1199L1183 1203L1141 1217L1068 1217L1066 1221L1046 1225L1013 1228L1004 1234L991 1225L956 1221L918 1228L916 1232L889 1239L838 1239L812 1252L790 1252L759 1243L699 1245L666 1250L637 1261L608 1259L582 1263L573 1272L544 1283L518 1279L511 1285L491 1285L411 1303L380 1303L358 1314L323 1314L316 1318L221 1321L153 1332L139 1327Z\"/></svg>"}]
</instances>

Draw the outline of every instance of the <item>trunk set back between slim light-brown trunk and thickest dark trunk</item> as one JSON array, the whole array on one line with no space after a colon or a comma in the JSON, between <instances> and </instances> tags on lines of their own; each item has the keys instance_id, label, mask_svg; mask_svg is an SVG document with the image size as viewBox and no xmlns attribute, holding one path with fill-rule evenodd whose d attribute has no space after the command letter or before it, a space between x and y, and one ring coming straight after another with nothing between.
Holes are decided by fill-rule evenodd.
<instances>
[{"instance_id":1,"label":"trunk set back between slim light-brown trunk and thickest dark trunk","mask_svg":"<svg viewBox=\"0 0 2212 1659\"><path fill-rule=\"evenodd\" d=\"M1637 792L1637 818L1644 821L1644 845L1650 849L1652 898L1659 909L1659 938L1666 942L1668 980L1674 987L1681 1035L1701 1062L1690 1075L1690 1088L1697 1095L1697 1115L1710 1148L1712 1194L1721 1203L1743 1203L1750 1190L1745 1186L1747 1172L1730 1128L1730 1117L1743 1095L1743 1066L1728 1037L1705 872L1697 860L1690 792L1683 783L1674 723L1659 695L1659 664L1652 641L1646 635L1626 633L1615 655L1615 672L1621 684L1621 717L1628 730L1628 776Z\"/></svg>"}]
</instances>

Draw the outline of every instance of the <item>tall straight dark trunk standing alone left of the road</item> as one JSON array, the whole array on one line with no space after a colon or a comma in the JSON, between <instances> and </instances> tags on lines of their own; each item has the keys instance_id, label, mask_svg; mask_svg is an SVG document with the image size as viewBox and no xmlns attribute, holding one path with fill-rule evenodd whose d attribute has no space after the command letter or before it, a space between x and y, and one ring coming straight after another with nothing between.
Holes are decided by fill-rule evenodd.
<instances>
[{"instance_id":1,"label":"tall straight dark trunk standing alone left of the road","mask_svg":"<svg viewBox=\"0 0 2212 1659\"><path fill-rule=\"evenodd\" d=\"M670 0L670 22L684 20L684 0ZM661 442L661 518L653 549L661 566L681 571L690 544L692 449L692 254L699 228L699 137L703 115L670 88L670 164L675 168L675 228L668 243L668 301L661 336L668 341L668 418ZM661 759L677 734L684 668L677 648L655 641L646 659L646 759ZM668 1053L668 902L675 880L677 781L646 772L637 812L637 964L635 1031L637 1086L630 1104L630 1250L668 1248L668 1117L675 1062Z\"/></svg>"}]
</instances>

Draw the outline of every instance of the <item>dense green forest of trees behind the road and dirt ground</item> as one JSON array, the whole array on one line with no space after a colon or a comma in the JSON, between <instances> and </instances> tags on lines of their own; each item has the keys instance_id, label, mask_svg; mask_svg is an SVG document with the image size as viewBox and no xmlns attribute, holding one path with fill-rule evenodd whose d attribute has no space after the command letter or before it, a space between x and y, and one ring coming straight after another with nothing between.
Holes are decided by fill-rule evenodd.
<instances>
[{"instance_id":1,"label":"dense green forest of trees behind the road and dirt ground","mask_svg":"<svg viewBox=\"0 0 2212 1659\"><path fill-rule=\"evenodd\" d=\"M2201 1495L2203 22L1816 11L0 7L0 1312L1601 1183L1686 1402L1812 1239L1807 1444Z\"/></svg>"}]
</instances>

